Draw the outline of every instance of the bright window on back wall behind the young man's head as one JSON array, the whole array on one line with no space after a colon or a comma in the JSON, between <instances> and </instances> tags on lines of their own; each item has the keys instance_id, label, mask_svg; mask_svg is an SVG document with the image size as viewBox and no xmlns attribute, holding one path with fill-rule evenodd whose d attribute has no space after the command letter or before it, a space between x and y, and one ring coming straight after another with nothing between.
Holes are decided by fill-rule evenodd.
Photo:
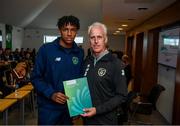
<instances>
[{"instance_id":1,"label":"bright window on back wall behind the young man's head","mask_svg":"<svg viewBox=\"0 0 180 126\"><path fill-rule=\"evenodd\" d=\"M54 41L58 36L44 35L44 43ZM74 40L76 43L83 43L83 36L78 36Z\"/></svg>"}]
</instances>

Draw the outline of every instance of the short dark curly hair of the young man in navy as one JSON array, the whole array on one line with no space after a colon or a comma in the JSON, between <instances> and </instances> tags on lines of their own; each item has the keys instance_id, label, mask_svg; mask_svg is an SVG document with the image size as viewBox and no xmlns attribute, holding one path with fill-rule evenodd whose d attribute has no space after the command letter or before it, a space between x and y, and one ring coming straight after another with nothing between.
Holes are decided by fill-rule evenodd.
<instances>
[{"instance_id":1,"label":"short dark curly hair of the young man in navy","mask_svg":"<svg viewBox=\"0 0 180 126\"><path fill-rule=\"evenodd\" d=\"M69 15L69 16L63 16L61 18L59 18L57 26L58 28L62 28L64 25L68 25L68 24L74 25L77 27L77 30L80 29L80 24L79 24L79 19L75 16Z\"/></svg>"}]
</instances>

